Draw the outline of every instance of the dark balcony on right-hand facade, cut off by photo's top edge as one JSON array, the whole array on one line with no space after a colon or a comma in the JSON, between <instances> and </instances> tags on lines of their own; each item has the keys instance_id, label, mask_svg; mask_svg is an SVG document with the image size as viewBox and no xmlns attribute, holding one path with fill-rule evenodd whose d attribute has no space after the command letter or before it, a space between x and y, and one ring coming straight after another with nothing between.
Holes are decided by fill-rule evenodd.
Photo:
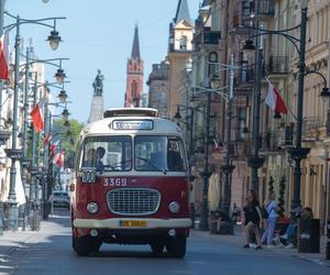
<instances>
[{"instance_id":1,"label":"dark balcony on right-hand facade, cut off by photo's top edge","mask_svg":"<svg viewBox=\"0 0 330 275\"><path fill-rule=\"evenodd\" d=\"M250 20L267 21L275 14L274 0L257 0L258 11L256 10L256 0L250 2Z\"/></svg>"}]
</instances>

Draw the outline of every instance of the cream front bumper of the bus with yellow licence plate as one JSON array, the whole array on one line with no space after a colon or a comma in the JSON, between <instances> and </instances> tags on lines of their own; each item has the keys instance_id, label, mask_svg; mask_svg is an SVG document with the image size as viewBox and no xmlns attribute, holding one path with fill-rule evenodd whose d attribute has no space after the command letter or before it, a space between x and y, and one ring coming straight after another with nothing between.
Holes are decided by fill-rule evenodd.
<instances>
[{"instance_id":1,"label":"cream front bumper of the bus with yellow licence plate","mask_svg":"<svg viewBox=\"0 0 330 275\"><path fill-rule=\"evenodd\" d=\"M80 229L166 229L190 228L191 219L75 219L74 227Z\"/></svg>"}]
</instances>

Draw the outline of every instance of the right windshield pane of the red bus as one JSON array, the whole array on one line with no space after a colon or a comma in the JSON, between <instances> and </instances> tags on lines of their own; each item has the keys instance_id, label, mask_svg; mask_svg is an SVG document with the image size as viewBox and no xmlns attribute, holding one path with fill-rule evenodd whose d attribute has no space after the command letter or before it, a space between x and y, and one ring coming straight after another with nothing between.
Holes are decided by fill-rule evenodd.
<instances>
[{"instance_id":1,"label":"right windshield pane of the red bus","mask_svg":"<svg viewBox=\"0 0 330 275\"><path fill-rule=\"evenodd\" d=\"M177 136L136 135L136 170L186 170L183 142Z\"/></svg>"}]
</instances>

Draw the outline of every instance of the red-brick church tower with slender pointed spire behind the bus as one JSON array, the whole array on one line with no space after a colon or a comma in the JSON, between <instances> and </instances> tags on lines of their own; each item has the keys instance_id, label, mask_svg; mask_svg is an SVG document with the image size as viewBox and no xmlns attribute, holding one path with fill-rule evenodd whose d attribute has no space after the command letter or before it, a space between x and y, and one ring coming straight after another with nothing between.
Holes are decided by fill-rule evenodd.
<instances>
[{"instance_id":1,"label":"red-brick church tower with slender pointed spire behind the bus","mask_svg":"<svg viewBox=\"0 0 330 275\"><path fill-rule=\"evenodd\" d=\"M141 107L143 91L143 61L140 56L139 29L135 25L131 58L127 67L127 92L124 107Z\"/></svg>"}]
</instances>

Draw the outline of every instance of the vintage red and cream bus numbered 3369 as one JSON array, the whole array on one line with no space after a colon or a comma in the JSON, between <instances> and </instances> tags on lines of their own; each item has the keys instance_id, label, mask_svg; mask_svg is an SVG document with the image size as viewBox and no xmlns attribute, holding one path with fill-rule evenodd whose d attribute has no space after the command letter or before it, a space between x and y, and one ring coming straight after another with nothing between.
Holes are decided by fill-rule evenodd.
<instances>
[{"instance_id":1,"label":"vintage red and cream bus numbered 3369","mask_svg":"<svg viewBox=\"0 0 330 275\"><path fill-rule=\"evenodd\" d=\"M185 256L191 227L187 166L180 129L155 109L111 109L85 127L70 187L76 253L119 243Z\"/></svg>"}]
</instances>

